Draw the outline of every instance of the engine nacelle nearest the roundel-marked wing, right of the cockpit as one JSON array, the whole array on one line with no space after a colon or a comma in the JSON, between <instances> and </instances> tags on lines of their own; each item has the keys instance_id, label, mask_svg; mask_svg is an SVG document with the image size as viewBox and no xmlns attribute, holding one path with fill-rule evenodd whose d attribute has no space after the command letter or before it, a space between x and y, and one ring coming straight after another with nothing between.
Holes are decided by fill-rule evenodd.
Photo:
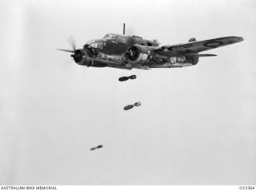
<instances>
[{"instance_id":1,"label":"engine nacelle nearest the roundel-marked wing, right of the cockpit","mask_svg":"<svg viewBox=\"0 0 256 191\"><path fill-rule=\"evenodd\" d=\"M152 58L152 50L150 46L134 45L128 49L126 58L134 65L145 65Z\"/></svg>"}]
</instances>

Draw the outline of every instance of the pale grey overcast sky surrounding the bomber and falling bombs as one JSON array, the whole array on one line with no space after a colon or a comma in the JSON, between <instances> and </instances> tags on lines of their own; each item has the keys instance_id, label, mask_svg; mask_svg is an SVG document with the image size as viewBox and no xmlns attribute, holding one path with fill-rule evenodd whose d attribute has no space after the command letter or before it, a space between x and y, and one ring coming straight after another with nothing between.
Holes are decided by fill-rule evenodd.
<instances>
[{"instance_id":1,"label":"pale grey overcast sky surrounding the bomber and falling bombs","mask_svg":"<svg viewBox=\"0 0 256 191\"><path fill-rule=\"evenodd\" d=\"M0 22L0 185L256 184L254 0L1 1ZM162 44L245 41L149 71L86 68L56 50L123 22Z\"/></svg>"}]
</instances>

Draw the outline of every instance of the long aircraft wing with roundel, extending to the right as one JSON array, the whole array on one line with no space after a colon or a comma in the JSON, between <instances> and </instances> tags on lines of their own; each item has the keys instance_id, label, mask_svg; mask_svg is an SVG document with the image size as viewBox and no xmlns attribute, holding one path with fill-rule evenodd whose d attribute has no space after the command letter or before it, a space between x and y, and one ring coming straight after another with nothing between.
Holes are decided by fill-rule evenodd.
<instances>
[{"instance_id":1,"label":"long aircraft wing with roundel, extending to the right","mask_svg":"<svg viewBox=\"0 0 256 191\"><path fill-rule=\"evenodd\" d=\"M158 47L155 51L161 55L176 56L178 54L198 53L242 41L243 38L241 37L214 38L205 41L187 42L173 46L161 46Z\"/></svg>"}]
</instances>

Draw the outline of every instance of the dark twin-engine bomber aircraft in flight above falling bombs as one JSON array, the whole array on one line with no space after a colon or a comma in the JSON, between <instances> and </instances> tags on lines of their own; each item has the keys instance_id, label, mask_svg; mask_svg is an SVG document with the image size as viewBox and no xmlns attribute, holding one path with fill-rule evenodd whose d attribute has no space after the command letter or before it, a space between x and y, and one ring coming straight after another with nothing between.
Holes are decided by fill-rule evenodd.
<instances>
[{"instance_id":1,"label":"dark twin-engine bomber aircraft in flight above falling bombs","mask_svg":"<svg viewBox=\"0 0 256 191\"><path fill-rule=\"evenodd\" d=\"M82 49L62 50L70 52L74 62L82 66L112 67L132 70L151 68L176 68L194 66L200 57L212 57L215 54L199 54L202 51L242 42L242 37L214 38L178 45L160 46L157 40L147 40L138 36L106 34L101 39L86 42Z\"/></svg>"}]
</instances>

